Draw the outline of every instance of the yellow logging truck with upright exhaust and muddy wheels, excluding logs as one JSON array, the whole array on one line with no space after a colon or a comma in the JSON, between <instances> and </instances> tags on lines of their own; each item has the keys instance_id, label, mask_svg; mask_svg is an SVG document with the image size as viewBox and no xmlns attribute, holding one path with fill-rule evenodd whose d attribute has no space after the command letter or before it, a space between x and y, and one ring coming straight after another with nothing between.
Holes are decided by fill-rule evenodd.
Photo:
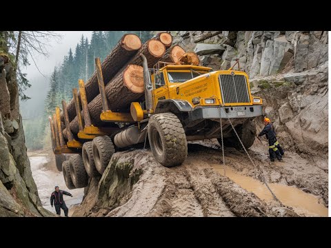
<instances>
[{"instance_id":1,"label":"yellow logging truck with upright exhaust and muddy wheels, excluding logs","mask_svg":"<svg viewBox=\"0 0 331 248\"><path fill-rule=\"evenodd\" d=\"M141 59L145 97L141 102L131 103L130 116L121 113L107 115L109 110L101 87L103 82L99 82L105 110L100 113L101 120L125 123L125 119L130 118L131 121L120 125L121 128L111 135L95 136L92 141L84 142L81 149L77 149L80 154L63 162L63 176L69 189L86 187L88 176L102 174L117 149L144 143L146 137L154 158L166 167L181 165L185 161L188 141L217 138L221 143L221 130L223 143L240 149L241 143L232 125L246 148L254 143L256 128L253 119L263 114L262 99L251 95L245 72L232 69L212 71L203 66L162 62L151 69L146 57L141 55ZM98 72L102 79L101 70ZM55 143L54 136L53 140ZM70 153L57 145L54 151L55 154ZM58 163L61 167L60 160Z\"/></svg>"}]
</instances>

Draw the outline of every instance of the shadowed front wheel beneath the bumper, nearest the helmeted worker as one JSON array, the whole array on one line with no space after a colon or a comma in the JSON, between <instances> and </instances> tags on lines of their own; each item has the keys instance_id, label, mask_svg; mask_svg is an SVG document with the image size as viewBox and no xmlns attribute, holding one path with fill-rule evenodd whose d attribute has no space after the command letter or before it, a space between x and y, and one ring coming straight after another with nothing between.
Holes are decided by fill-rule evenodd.
<instances>
[{"instance_id":1,"label":"shadowed front wheel beneath the bumper, nearest the helmeted worker","mask_svg":"<svg viewBox=\"0 0 331 248\"><path fill-rule=\"evenodd\" d=\"M241 139L241 142L245 148L250 148L255 141L255 136L257 135L257 127L255 126L254 120L248 119L243 124L237 125L234 128L236 129L237 134L239 135L239 138ZM217 138L217 140L221 144L221 138ZM233 130L231 131L230 137L223 138L223 143L225 146L243 150L243 147L241 146L241 143Z\"/></svg>"}]
</instances>

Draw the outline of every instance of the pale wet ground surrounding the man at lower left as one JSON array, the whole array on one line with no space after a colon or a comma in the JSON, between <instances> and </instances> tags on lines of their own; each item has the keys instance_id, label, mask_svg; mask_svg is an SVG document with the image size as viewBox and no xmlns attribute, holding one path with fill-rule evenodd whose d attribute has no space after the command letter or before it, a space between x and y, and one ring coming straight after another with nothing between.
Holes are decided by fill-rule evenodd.
<instances>
[{"instance_id":1,"label":"pale wet ground surrounding the man at lower left","mask_svg":"<svg viewBox=\"0 0 331 248\"><path fill-rule=\"evenodd\" d=\"M64 182L62 172L57 172L54 166L48 166L49 154L38 154L30 156L31 170L34 181L37 185L38 194L43 207L55 213L55 208L50 206L50 194L54 191L54 186L58 185L60 189L66 190L72 194L72 198L64 196L67 207L70 209L78 205L83 200L84 189L68 189ZM71 211L70 211L71 213ZM61 210L61 216L64 216Z\"/></svg>"}]
</instances>

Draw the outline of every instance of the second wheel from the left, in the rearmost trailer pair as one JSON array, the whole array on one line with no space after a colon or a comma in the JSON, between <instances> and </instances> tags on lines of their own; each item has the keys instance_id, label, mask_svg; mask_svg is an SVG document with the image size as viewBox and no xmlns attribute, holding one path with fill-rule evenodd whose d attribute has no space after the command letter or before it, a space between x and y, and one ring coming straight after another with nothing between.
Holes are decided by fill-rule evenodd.
<instances>
[{"instance_id":1,"label":"second wheel from the left, in the rearmost trailer pair","mask_svg":"<svg viewBox=\"0 0 331 248\"><path fill-rule=\"evenodd\" d=\"M79 189L88 186L88 174L86 173L81 155L74 154L69 158L72 183Z\"/></svg>"}]
</instances>

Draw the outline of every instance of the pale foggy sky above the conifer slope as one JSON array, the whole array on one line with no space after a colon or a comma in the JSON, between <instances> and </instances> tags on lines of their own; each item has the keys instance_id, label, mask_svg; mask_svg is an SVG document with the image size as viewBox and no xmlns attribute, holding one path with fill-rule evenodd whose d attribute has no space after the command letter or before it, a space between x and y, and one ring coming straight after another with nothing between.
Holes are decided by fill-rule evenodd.
<instances>
[{"instance_id":1,"label":"pale foggy sky above the conifer slope","mask_svg":"<svg viewBox=\"0 0 331 248\"><path fill-rule=\"evenodd\" d=\"M92 31L57 31L57 33L61 34L63 37L59 42L50 42L50 46L48 47L48 58L41 55L34 58L34 61L36 61L39 70L46 76L50 76L54 70L55 65L62 63L63 56L68 55L70 48L72 48L72 53L74 53L74 49L81 39L81 34L83 34L84 37L88 37L88 41L90 41L92 36ZM29 61L30 65L23 71L28 74L28 79L31 80L35 79L41 74L38 72L32 59L29 59Z\"/></svg>"}]
</instances>

